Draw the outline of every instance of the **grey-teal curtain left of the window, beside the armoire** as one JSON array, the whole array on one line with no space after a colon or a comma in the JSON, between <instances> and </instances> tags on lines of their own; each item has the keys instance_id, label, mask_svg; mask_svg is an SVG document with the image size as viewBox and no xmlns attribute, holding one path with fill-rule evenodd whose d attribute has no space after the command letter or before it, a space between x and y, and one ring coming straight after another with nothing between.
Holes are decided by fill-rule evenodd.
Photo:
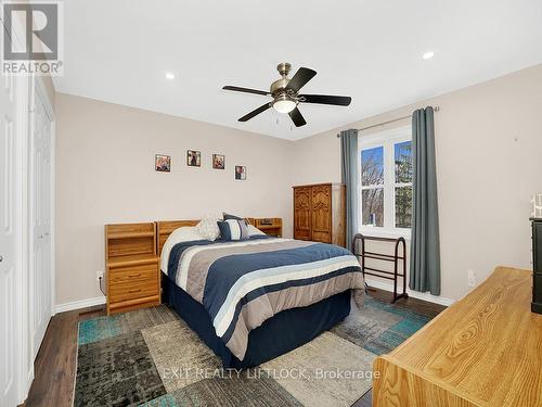
<instances>
[{"instance_id":1,"label":"grey-teal curtain left of the window, beside the armoire","mask_svg":"<svg viewBox=\"0 0 542 407\"><path fill-rule=\"evenodd\" d=\"M358 130L340 131L340 176L346 186L346 249L358 232Z\"/></svg>"}]
</instances>

